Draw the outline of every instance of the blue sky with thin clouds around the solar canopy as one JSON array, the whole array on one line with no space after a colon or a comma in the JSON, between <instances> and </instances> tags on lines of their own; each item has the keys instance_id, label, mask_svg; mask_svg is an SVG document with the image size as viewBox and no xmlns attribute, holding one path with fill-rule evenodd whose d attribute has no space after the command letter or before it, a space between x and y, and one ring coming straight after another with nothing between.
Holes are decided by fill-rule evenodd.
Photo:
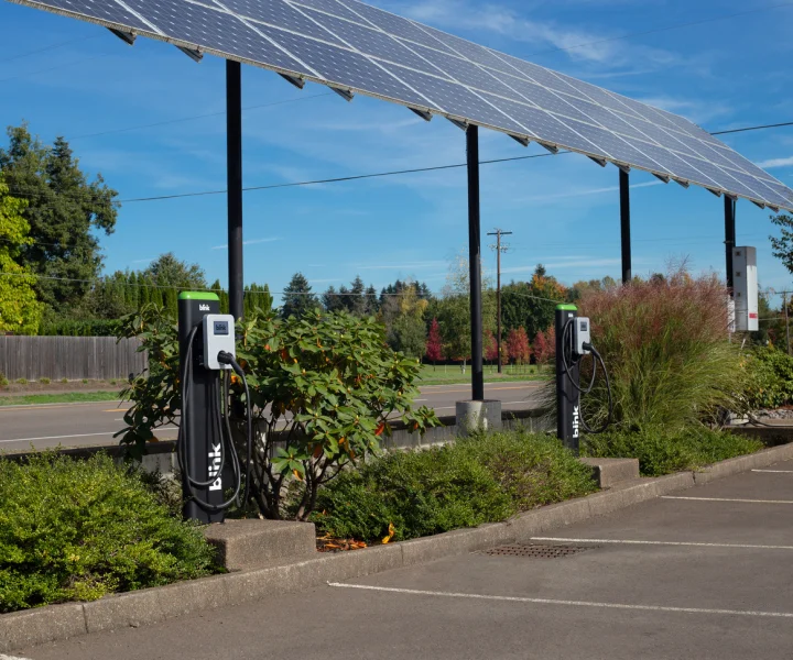
<instances>
[{"instance_id":1,"label":"blue sky with thin clouds around the solar canopy","mask_svg":"<svg viewBox=\"0 0 793 660\"><path fill-rule=\"evenodd\" d=\"M612 37L725 16L773 2L659 0L373 0L395 13L678 112L707 130L793 121L793 3L627 40ZM33 51L70 42L37 54ZM583 47L580 44L587 44ZM566 50L561 50L566 48ZM22 57L15 57L24 55ZM243 67L245 184L260 186L463 163L465 136L442 119L326 88L303 91ZM102 28L0 2L0 123L28 120L44 141L64 135L89 173L121 199L226 185L225 68L196 64L173 46L129 47ZM273 105L278 103L278 105ZM174 121L160 127L110 132ZM106 133L96 135L96 133ZM793 128L725 141L793 186ZM542 153L481 132L481 157ZM633 270L688 257L724 271L723 202L637 172L631 183ZM542 262L562 282L619 277L618 170L562 155L481 169L482 231L514 232L507 279ZM224 195L126 204L102 238L106 270L140 268L166 251L225 284ZM281 290L302 271L324 290L360 275L381 287L397 277L441 290L467 245L465 169L246 194L246 282ZM758 248L762 286L791 288L772 257L769 211L738 205L738 242ZM484 252L495 270L495 253Z\"/></svg>"}]
</instances>

